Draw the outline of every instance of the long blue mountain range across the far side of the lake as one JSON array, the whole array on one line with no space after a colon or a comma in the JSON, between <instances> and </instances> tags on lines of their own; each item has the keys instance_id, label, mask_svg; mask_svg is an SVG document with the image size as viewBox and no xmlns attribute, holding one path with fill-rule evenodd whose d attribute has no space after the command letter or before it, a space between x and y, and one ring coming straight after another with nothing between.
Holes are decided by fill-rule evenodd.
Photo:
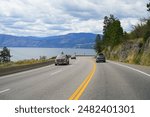
<instances>
[{"instance_id":1,"label":"long blue mountain range across the far side of the lake","mask_svg":"<svg viewBox=\"0 0 150 117\"><path fill-rule=\"evenodd\" d=\"M69 33L60 36L23 37L0 34L0 47L93 48L96 34Z\"/></svg>"}]
</instances>

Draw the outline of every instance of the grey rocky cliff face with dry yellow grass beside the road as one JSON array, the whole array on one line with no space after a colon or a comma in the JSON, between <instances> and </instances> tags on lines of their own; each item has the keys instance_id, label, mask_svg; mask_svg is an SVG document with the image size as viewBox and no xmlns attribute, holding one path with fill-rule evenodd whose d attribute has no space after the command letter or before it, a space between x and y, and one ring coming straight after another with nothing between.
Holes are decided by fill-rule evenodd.
<instances>
[{"instance_id":1,"label":"grey rocky cliff face with dry yellow grass beside the road","mask_svg":"<svg viewBox=\"0 0 150 117\"><path fill-rule=\"evenodd\" d=\"M150 38L145 43L142 38L128 40L113 49L107 47L104 53L111 60L150 65Z\"/></svg>"}]
</instances>

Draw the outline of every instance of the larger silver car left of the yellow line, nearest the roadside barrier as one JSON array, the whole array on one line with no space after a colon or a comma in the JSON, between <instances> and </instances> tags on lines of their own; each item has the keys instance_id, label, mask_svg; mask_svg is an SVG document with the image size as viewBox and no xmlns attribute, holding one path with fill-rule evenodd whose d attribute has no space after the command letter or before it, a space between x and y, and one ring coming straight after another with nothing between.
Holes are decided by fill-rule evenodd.
<instances>
[{"instance_id":1,"label":"larger silver car left of the yellow line, nearest the roadside barrier","mask_svg":"<svg viewBox=\"0 0 150 117\"><path fill-rule=\"evenodd\" d=\"M69 65L69 57L68 55L58 55L55 59L55 65Z\"/></svg>"}]
</instances>

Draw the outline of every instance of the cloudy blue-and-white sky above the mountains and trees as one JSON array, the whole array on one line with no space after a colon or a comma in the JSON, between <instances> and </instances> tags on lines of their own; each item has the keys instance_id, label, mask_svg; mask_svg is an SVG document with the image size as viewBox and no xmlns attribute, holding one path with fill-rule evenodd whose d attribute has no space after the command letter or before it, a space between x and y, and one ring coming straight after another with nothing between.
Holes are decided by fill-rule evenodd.
<instances>
[{"instance_id":1,"label":"cloudy blue-and-white sky above the mountains and trees","mask_svg":"<svg viewBox=\"0 0 150 117\"><path fill-rule=\"evenodd\" d=\"M104 16L110 14L129 32L148 17L146 3L148 0L0 0L0 34L102 34Z\"/></svg>"}]
</instances>

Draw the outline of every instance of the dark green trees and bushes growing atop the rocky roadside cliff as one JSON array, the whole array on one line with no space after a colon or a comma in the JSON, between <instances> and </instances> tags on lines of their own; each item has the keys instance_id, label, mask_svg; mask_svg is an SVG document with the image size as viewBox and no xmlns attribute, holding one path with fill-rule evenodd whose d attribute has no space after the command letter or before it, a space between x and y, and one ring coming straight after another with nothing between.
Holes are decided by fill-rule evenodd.
<instances>
[{"instance_id":1,"label":"dark green trees and bushes growing atop the rocky roadside cliff","mask_svg":"<svg viewBox=\"0 0 150 117\"><path fill-rule=\"evenodd\" d=\"M147 4L147 11L150 12L150 2ZM101 53L108 46L113 49L116 45L127 39L143 38L143 42L150 37L150 18L144 19L144 23L133 27L130 33L123 31L121 22L114 15L104 17L103 36L99 34L95 40L95 50Z\"/></svg>"}]
</instances>

